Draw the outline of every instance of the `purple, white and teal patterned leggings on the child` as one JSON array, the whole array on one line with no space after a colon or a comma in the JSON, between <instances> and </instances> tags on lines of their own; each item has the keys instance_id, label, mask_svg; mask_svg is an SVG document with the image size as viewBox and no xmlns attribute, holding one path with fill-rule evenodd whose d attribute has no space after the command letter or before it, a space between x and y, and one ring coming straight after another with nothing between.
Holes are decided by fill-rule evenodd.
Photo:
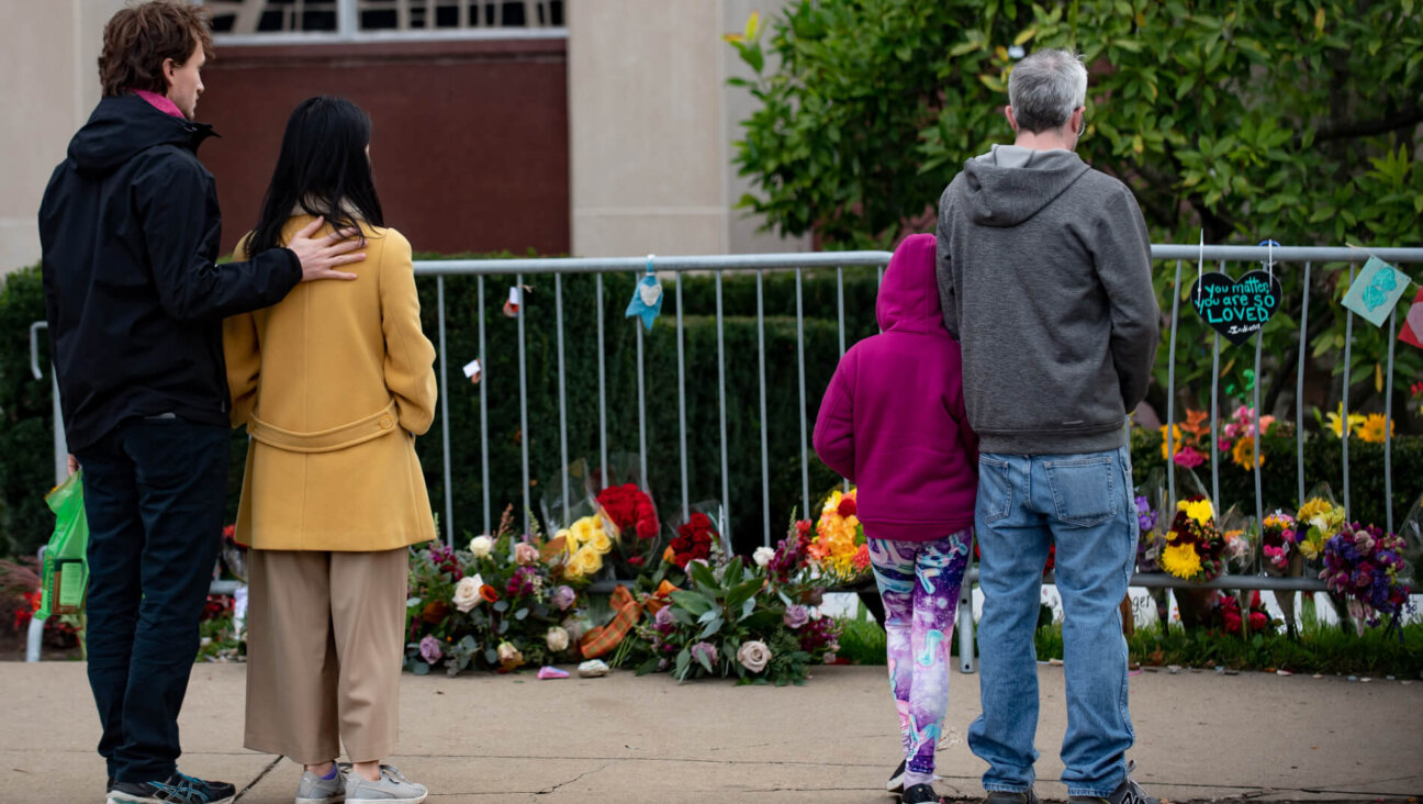
<instances>
[{"instance_id":1,"label":"purple, white and teal patterned leggings on the child","mask_svg":"<svg viewBox=\"0 0 1423 804\"><path fill-rule=\"evenodd\" d=\"M973 532L932 542L869 539L885 603L889 684L899 710L906 770L933 773L949 706L949 645Z\"/></svg>"}]
</instances>

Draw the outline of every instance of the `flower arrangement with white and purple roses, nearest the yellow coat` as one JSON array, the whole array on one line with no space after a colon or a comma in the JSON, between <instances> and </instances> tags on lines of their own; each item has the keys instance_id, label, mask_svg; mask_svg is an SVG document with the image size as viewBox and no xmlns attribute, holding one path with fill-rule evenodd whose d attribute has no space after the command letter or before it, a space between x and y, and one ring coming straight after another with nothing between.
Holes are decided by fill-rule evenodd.
<instances>
[{"instance_id":1,"label":"flower arrangement with white and purple roses, nearest the yellow coat","mask_svg":"<svg viewBox=\"0 0 1423 804\"><path fill-rule=\"evenodd\" d=\"M566 555L538 532L517 535L512 505L494 536L475 536L467 549L433 542L414 551L406 669L454 676L471 665L511 672L576 660L583 626Z\"/></svg>"}]
</instances>

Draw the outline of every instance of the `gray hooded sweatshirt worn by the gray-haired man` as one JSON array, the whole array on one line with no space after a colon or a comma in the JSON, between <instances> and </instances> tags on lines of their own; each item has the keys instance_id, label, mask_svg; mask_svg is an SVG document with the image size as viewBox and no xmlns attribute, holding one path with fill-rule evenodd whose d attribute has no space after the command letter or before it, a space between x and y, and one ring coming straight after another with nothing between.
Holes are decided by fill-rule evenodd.
<instances>
[{"instance_id":1,"label":"gray hooded sweatshirt worn by the gray-haired man","mask_svg":"<svg viewBox=\"0 0 1423 804\"><path fill-rule=\"evenodd\" d=\"M939 198L943 323L982 453L1126 444L1160 334L1136 198L1070 151L995 145Z\"/></svg>"}]
</instances>

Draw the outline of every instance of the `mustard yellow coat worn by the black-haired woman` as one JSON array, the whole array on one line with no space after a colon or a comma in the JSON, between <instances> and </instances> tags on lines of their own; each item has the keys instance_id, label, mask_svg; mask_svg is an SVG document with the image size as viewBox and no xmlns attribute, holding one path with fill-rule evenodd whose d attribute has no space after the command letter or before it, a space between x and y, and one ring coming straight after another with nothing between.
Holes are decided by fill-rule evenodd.
<instances>
[{"instance_id":1,"label":"mustard yellow coat worn by the black-haired woman","mask_svg":"<svg viewBox=\"0 0 1423 804\"><path fill-rule=\"evenodd\" d=\"M287 221L283 240L310 222ZM420 330L410 242L361 233L366 259L340 269L357 279L302 283L223 323L232 424L252 437L240 544L360 552L435 536L416 457L434 420L435 350Z\"/></svg>"}]
</instances>

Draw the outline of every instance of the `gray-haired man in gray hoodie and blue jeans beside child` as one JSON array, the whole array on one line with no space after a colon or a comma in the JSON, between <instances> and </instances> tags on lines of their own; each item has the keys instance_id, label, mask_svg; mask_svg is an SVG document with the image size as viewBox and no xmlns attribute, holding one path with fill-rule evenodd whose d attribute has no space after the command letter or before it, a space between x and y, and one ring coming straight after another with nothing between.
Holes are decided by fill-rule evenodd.
<instances>
[{"instance_id":1,"label":"gray-haired man in gray hoodie and blue jeans beside child","mask_svg":"<svg viewBox=\"0 0 1423 804\"><path fill-rule=\"evenodd\" d=\"M1146 397L1160 310L1150 240L1131 191L1073 149L1087 70L1042 50L1009 77L1017 134L969 159L939 199L943 322L963 349L963 396L980 438L983 714L969 747L992 804L1032 804L1037 623L1056 544L1063 601L1073 803L1154 801L1128 777L1127 645L1118 605L1136 559L1126 416Z\"/></svg>"}]
</instances>

